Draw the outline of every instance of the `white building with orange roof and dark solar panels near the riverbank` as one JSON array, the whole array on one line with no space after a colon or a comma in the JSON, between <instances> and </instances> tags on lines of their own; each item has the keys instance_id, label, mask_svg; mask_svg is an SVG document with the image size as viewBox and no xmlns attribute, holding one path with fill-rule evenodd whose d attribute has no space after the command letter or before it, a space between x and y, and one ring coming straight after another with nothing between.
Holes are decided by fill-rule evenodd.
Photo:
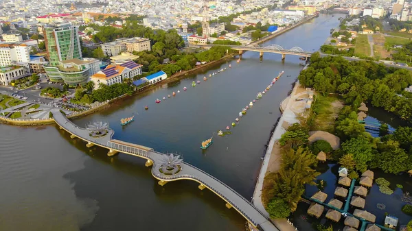
<instances>
[{"instance_id":1,"label":"white building with orange roof and dark solar panels near the riverbank","mask_svg":"<svg viewBox=\"0 0 412 231\"><path fill-rule=\"evenodd\" d=\"M124 79L133 79L133 77L141 75L141 65L133 61L125 62L120 65L108 65L106 69L91 75L90 79L95 83L95 88L100 84L112 85L119 84Z\"/></svg>"}]
</instances>

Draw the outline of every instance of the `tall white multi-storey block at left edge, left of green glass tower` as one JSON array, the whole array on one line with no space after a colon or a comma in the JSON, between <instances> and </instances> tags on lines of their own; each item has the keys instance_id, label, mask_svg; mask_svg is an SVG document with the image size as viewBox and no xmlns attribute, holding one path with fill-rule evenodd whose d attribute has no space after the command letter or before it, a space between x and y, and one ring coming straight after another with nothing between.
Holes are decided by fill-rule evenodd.
<instances>
[{"instance_id":1,"label":"tall white multi-storey block at left edge, left of green glass tower","mask_svg":"<svg viewBox=\"0 0 412 231\"><path fill-rule=\"evenodd\" d=\"M12 62L29 62L30 50L27 45L3 43L0 44L0 66L10 66Z\"/></svg>"}]
</instances>

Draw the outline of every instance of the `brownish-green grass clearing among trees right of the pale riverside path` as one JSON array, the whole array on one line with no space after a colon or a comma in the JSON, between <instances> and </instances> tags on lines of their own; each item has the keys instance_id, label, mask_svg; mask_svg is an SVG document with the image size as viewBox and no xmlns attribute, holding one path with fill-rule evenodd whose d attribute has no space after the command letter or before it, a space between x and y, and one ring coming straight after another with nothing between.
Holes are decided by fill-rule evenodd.
<instances>
[{"instance_id":1,"label":"brownish-green grass clearing among trees right of the pale riverside path","mask_svg":"<svg viewBox=\"0 0 412 231\"><path fill-rule=\"evenodd\" d=\"M308 120L311 131L325 131L334 133L334 120L338 116L343 104L336 96L317 95L316 101L312 105L314 112L312 118Z\"/></svg>"}]
</instances>

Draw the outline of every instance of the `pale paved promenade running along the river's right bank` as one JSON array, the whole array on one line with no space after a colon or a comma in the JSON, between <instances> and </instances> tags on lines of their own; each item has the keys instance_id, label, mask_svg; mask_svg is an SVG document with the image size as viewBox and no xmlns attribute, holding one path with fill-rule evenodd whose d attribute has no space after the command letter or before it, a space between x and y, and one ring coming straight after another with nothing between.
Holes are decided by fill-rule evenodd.
<instances>
[{"instance_id":1,"label":"pale paved promenade running along the river's right bank","mask_svg":"<svg viewBox=\"0 0 412 231\"><path fill-rule=\"evenodd\" d=\"M258 208L261 210L264 215L269 217L268 212L266 212L266 209L264 208L264 205L262 203L262 189L263 189L263 181L264 177L266 175L266 172L268 171L268 165L271 160L272 152L273 152L273 147L275 146L275 143L279 138L281 138L282 134L286 132L284 127L282 126L285 122L289 124L293 123L299 123L299 120L296 118L296 114L293 112L291 109L293 106L293 102L297 98L297 89L299 88L300 84L299 81L296 82L295 87L292 90L292 93L290 94L290 99L288 100L288 104L286 104L286 108L284 108L282 117L280 117L279 122L277 123L277 126L275 128L275 131L273 132L273 135L271 137L271 140L268 143L268 148L266 149L266 154L264 156L264 160L262 163L262 167L260 169L259 177L258 177L258 182L256 182L255 186L255 191L253 192L253 199L252 202ZM279 230L282 231L293 231L295 230L295 227L290 225L286 219L273 219L273 223L279 228Z\"/></svg>"}]
</instances>

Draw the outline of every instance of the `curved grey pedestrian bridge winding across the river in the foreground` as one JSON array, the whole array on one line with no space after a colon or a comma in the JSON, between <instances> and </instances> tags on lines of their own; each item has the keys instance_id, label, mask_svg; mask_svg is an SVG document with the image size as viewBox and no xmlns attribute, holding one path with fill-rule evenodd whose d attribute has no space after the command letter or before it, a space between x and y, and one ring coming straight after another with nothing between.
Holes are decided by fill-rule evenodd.
<instances>
[{"instance_id":1,"label":"curved grey pedestrian bridge winding across the river in the foreground","mask_svg":"<svg viewBox=\"0 0 412 231\"><path fill-rule=\"evenodd\" d=\"M118 152L122 152L124 154L146 159L146 167L152 166L152 175L159 180L161 186L167 182L175 180L193 180L199 183L199 189L209 189L227 203L227 208L234 208L237 210L240 215L247 219L249 227L264 231L278 231L275 225L271 222L271 219L266 217L260 210L258 210L258 208L255 208L251 202L205 171L202 171L187 162L180 162L179 172L167 175L163 174L161 172L161 162L163 162L162 159L164 160L167 155L161 154L150 147L112 139L114 131L111 129L107 130L108 133L106 136L93 138L90 135L90 130L78 127L76 124L69 121L69 119L67 119L67 117L65 117L59 110L53 110L52 113L54 121L56 121L60 129L69 132L71 138L80 138L83 141L86 141L87 147L93 147L95 145L104 147L109 150L108 156L113 156Z\"/></svg>"}]
</instances>

